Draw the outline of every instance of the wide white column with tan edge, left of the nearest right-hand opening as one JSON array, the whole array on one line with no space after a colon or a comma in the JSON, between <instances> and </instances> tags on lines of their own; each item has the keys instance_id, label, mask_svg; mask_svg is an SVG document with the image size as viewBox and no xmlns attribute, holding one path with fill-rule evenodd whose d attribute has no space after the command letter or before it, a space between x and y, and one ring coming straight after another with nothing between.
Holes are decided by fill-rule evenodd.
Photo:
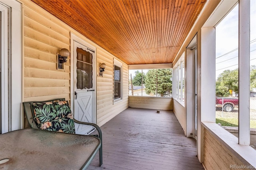
<instances>
[{"instance_id":1,"label":"wide white column with tan edge, left of the nearest right-hand opening","mask_svg":"<svg viewBox=\"0 0 256 170\"><path fill-rule=\"evenodd\" d=\"M197 34L197 155L204 161L202 121L215 123L215 28L202 28Z\"/></svg>"}]
</instances>

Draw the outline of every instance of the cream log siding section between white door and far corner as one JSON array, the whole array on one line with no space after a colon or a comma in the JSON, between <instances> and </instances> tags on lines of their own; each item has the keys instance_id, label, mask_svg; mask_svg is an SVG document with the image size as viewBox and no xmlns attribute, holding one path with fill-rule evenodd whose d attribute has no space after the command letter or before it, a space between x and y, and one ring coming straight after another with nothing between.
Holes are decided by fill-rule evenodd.
<instances>
[{"instance_id":1,"label":"cream log siding section between white door and far corner","mask_svg":"<svg viewBox=\"0 0 256 170\"><path fill-rule=\"evenodd\" d=\"M128 108L129 93L128 65L123 63L122 67L122 101L113 103L114 56L105 50L97 49L97 68L100 67L100 63L105 63L106 69L103 73L103 77L97 77L97 122L99 126L104 125ZM99 73L97 73L97 75L98 74Z\"/></svg>"}]
</instances>

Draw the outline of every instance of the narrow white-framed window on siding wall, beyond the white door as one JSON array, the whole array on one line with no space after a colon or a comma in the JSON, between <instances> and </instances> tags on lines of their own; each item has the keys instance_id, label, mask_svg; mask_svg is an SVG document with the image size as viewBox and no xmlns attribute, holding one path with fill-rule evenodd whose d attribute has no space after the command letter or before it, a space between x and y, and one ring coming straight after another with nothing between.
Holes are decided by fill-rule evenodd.
<instances>
[{"instance_id":1,"label":"narrow white-framed window on siding wall, beyond the white door","mask_svg":"<svg viewBox=\"0 0 256 170\"><path fill-rule=\"evenodd\" d=\"M122 100L122 63L114 59L114 102Z\"/></svg>"}]
</instances>

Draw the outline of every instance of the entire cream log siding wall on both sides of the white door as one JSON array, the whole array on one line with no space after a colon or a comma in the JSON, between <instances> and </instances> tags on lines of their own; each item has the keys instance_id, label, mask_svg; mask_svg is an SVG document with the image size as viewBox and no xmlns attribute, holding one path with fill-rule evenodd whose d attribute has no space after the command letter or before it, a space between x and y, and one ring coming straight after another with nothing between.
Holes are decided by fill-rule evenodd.
<instances>
[{"instance_id":1,"label":"entire cream log siding wall on both sides of the white door","mask_svg":"<svg viewBox=\"0 0 256 170\"><path fill-rule=\"evenodd\" d=\"M113 103L114 55L70 28L30 0L21 0L23 8L23 101L65 98L70 101L70 57L64 70L57 69L57 53L70 50L70 32L97 48L97 124L104 125L128 108L128 65L123 63L123 99ZM103 77L98 77L99 63L106 63ZM24 127L28 127L26 119Z\"/></svg>"}]
</instances>

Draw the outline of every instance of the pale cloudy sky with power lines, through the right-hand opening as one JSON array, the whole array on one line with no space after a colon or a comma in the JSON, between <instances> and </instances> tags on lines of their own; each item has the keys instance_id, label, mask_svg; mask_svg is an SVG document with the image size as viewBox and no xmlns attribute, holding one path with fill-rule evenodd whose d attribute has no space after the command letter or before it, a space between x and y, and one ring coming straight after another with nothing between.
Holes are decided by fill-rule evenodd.
<instances>
[{"instance_id":1,"label":"pale cloudy sky with power lines, through the right-hand opening","mask_svg":"<svg viewBox=\"0 0 256 170\"><path fill-rule=\"evenodd\" d=\"M256 65L256 0L250 1L250 65ZM216 26L216 78L238 68L238 5Z\"/></svg>"}]
</instances>

